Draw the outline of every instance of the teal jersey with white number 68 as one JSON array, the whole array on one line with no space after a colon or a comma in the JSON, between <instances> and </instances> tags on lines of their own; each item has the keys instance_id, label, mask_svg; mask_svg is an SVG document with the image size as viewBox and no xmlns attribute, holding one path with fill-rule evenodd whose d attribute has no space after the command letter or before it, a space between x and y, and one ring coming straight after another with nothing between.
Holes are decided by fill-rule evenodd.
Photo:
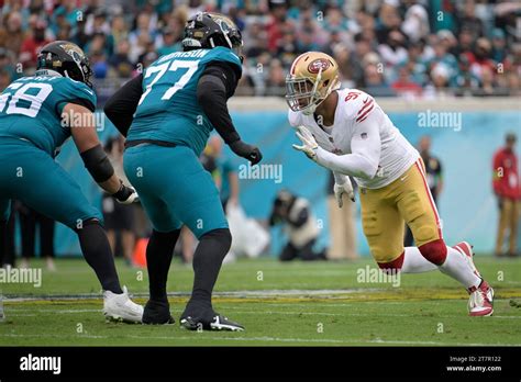
<instances>
[{"instance_id":1,"label":"teal jersey with white number 68","mask_svg":"<svg viewBox=\"0 0 521 382\"><path fill-rule=\"evenodd\" d=\"M33 76L15 80L0 96L0 138L25 139L54 156L70 136L70 128L62 123L62 112L75 100L96 105L93 90L67 77Z\"/></svg>"}]
</instances>

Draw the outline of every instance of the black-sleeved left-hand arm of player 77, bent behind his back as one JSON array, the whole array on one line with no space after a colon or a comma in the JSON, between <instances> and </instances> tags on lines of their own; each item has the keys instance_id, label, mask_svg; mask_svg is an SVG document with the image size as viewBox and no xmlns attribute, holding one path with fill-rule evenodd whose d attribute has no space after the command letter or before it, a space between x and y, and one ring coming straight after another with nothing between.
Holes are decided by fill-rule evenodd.
<instances>
[{"instance_id":1,"label":"black-sleeved left-hand arm of player 77, bent behind his back","mask_svg":"<svg viewBox=\"0 0 521 382\"><path fill-rule=\"evenodd\" d=\"M103 111L115 128L126 137L143 94L143 74L128 81L104 104Z\"/></svg>"}]
</instances>

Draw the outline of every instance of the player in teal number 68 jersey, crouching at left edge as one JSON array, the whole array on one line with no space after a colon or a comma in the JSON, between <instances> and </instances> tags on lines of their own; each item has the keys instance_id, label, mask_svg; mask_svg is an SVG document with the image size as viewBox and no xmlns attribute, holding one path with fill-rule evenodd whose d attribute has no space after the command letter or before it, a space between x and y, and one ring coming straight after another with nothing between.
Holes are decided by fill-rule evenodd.
<instances>
[{"instance_id":1,"label":"player in teal number 68 jersey, crouching at left edge","mask_svg":"<svg viewBox=\"0 0 521 382\"><path fill-rule=\"evenodd\" d=\"M84 52L75 44L57 41L42 48L34 76L15 80L1 93L0 238L5 236L12 199L67 225L78 234L85 259L103 288L104 315L141 322L143 307L133 303L120 285L101 213L54 160L55 153L71 136L101 188L121 203L137 198L135 190L114 175L98 139L90 75Z\"/></svg>"}]
</instances>

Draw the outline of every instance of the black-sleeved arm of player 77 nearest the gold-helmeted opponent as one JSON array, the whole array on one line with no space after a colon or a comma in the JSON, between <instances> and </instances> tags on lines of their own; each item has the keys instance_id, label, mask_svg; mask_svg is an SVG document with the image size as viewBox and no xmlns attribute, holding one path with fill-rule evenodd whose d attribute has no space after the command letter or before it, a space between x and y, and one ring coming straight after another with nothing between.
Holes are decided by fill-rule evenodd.
<instances>
[{"instance_id":1,"label":"black-sleeved arm of player 77 nearest the gold-helmeted opponent","mask_svg":"<svg viewBox=\"0 0 521 382\"><path fill-rule=\"evenodd\" d=\"M235 92L240 75L231 64L211 63L197 85L197 100L219 135L237 156L256 165L263 158L260 150L241 141L228 111L226 101Z\"/></svg>"}]
</instances>

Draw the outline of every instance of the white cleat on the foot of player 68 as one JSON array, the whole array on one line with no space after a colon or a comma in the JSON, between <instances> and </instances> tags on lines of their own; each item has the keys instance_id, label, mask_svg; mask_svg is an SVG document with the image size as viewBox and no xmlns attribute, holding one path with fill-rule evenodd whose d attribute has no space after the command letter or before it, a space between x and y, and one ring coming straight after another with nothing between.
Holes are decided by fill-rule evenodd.
<instances>
[{"instance_id":1,"label":"white cleat on the foot of player 68","mask_svg":"<svg viewBox=\"0 0 521 382\"><path fill-rule=\"evenodd\" d=\"M141 323L143 306L134 303L129 297L126 286L123 286L121 294L111 291L103 292L103 314L109 321Z\"/></svg>"}]
</instances>

